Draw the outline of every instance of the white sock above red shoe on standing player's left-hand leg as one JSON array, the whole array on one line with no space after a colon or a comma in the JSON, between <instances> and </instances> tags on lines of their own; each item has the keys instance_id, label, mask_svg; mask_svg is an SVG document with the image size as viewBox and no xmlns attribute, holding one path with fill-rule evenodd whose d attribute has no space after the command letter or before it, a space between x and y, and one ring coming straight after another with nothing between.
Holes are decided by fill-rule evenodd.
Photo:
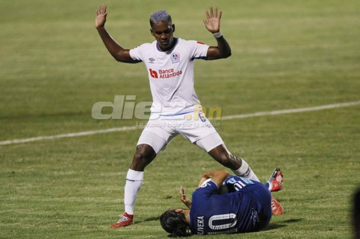
<instances>
[{"instance_id":1,"label":"white sock above red shoe on standing player's left-hand leg","mask_svg":"<svg viewBox=\"0 0 360 239\"><path fill-rule=\"evenodd\" d=\"M134 171L130 168L129 171L127 171L124 190L124 204L125 212L127 214L134 215L135 200L140 190L141 184L143 183L143 179L143 171Z\"/></svg>"}]
</instances>

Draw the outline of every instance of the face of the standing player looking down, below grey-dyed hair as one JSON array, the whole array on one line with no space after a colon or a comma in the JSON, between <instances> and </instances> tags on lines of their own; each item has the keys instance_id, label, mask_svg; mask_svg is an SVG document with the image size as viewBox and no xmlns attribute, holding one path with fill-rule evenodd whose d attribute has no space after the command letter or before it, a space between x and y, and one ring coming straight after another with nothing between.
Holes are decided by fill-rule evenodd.
<instances>
[{"instance_id":1,"label":"face of the standing player looking down, below grey-dyed hair","mask_svg":"<svg viewBox=\"0 0 360 239\"><path fill-rule=\"evenodd\" d=\"M170 25L168 22L155 23L150 29L151 34L155 37L162 50L167 50L171 47L174 40L172 34L175 31L175 25Z\"/></svg>"}]
</instances>

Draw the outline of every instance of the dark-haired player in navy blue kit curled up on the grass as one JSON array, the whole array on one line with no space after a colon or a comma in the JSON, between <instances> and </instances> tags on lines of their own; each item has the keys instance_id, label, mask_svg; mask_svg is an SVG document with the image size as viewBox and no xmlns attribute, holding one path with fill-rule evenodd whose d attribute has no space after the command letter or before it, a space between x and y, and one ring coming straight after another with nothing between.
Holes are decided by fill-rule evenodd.
<instances>
[{"instance_id":1,"label":"dark-haired player in navy blue kit curled up on the grass","mask_svg":"<svg viewBox=\"0 0 360 239\"><path fill-rule=\"evenodd\" d=\"M207 179L211 179L207 181ZM177 208L160 216L162 228L171 237L191 234L247 233L266 227L271 219L270 192L282 189L279 168L262 184L229 175L223 170L204 173L191 201L180 186L180 198L189 209ZM222 187L229 192L219 194ZM279 205L280 206L280 205ZM281 206L280 206L281 207Z\"/></svg>"}]
</instances>

